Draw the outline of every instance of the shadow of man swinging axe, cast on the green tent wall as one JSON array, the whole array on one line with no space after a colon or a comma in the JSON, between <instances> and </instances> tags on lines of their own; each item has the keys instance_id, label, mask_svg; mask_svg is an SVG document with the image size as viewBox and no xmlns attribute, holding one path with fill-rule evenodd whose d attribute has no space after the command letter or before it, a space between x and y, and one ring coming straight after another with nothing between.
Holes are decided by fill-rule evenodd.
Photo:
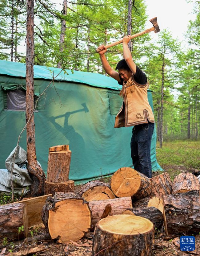
<instances>
[{"instance_id":1,"label":"shadow of man swinging axe, cast on the green tent wall","mask_svg":"<svg viewBox=\"0 0 200 256\"><path fill-rule=\"evenodd\" d=\"M69 117L72 114L78 113L78 112L89 112L89 109L86 106L86 103L81 104L83 106L82 109L77 109L74 111L66 112L65 114L56 116L56 117L50 117L50 122L55 126L55 128L62 132L63 135L65 135L66 139L69 141L69 148L72 151L72 162L71 167L72 169L83 171L83 162L86 161L87 155L86 155L86 148L85 148L85 142L82 136L74 130L74 127L72 125L69 125ZM55 120L58 118L64 117L64 126L62 127L60 124L58 124ZM66 142L62 141L62 138L59 140L58 144L66 144ZM73 159L75 159L75 166L73 168ZM79 176L80 177L80 176Z\"/></svg>"}]
</instances>

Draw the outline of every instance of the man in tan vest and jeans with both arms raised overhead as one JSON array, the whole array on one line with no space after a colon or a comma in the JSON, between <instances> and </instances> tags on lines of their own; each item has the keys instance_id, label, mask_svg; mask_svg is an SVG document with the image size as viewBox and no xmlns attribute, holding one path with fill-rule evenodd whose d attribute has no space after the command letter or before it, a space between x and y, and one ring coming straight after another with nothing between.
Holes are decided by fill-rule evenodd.
<instances>
[{"instance_id":1,"label":"man in tan vest and jeans with both arms raised overhead","mask_svg":"<svg viewBox=\"0 0 200 256\"><path fill-rule=\"evenodd\" d=\"M98 48L102 66L106 73L122 85L120 95L123 104L115 118L115 128L134 126L130 142L131 158L136 171L152 177L151 169L151 138L154 131L154 114L147 99L148 82L146 75L136 66L128 47L130 35L123 38L123 56L113 70L108 63L104 45Z\"/></svg>"}]
</instances>

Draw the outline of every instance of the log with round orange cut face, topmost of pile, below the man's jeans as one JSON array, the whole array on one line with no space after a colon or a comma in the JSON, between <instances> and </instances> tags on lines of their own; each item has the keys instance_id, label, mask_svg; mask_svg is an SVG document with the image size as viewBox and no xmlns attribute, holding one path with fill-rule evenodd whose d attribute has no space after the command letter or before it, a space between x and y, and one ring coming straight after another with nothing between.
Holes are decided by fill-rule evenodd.
<instances>
[{"instance_id":1,"label":"log with round orange cut face, topmost of pile, below the man's jeans","mask_svg":"<svg viewBox=\"0 0 200 256\"><path fill-rule=\"evenodd\" d=\"M111 189L115 196L140 199L150 195L151 182L142 173L130 167L122 167L112 175Z\"/></svg>"}]
</instances>

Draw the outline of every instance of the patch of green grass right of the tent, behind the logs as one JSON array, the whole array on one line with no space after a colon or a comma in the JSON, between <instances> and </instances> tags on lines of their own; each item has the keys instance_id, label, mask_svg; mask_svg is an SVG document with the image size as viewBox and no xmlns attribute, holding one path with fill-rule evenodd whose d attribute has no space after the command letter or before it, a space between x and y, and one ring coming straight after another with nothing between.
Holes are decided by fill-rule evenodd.
<instances>
[{"instance_id":1,"label":"patch of green grass right of the tent, behind the logs","mask_svg":"<svg viewBox=\"0 0 200 256\"><path fill-rule=\"evenodd\" d=\"M182 171L200 170L200 142L175 140L156 148L157 161L171 179Z\"/></svg>"}]
</instances>

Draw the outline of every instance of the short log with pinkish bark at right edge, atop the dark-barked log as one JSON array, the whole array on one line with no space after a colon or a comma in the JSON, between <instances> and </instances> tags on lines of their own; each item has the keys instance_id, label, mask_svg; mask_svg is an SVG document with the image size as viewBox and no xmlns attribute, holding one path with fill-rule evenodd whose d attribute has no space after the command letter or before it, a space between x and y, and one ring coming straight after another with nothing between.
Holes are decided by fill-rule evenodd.
<instances>
[{"instance_id":1,"label":"short log with pinkish bark at right edge, atop the dark-barked log","mask_svg":"<svg viewBox=\"0 0 200 256\"><path fill-rule=\"evenodd\" d=\"M191 190L200 190L198 178L190 172L177 175L172 185L172 194L185 193Z\"/></svg>"}]
</instances>

